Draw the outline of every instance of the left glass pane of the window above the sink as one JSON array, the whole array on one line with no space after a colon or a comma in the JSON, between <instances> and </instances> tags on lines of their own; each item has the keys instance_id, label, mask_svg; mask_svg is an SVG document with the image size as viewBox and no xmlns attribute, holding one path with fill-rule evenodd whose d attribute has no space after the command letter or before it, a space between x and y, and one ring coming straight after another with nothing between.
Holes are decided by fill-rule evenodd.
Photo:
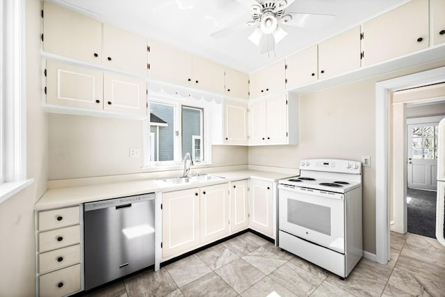
<instances>
[{"instance_id":1,"label":"left glass pane of the window above the sink","mask_svg":"<svg viewBox=\"0 0 445 297\"><path fill-rule=\"evenodd\" d=\"M154 143L150 149L152 161L175 160L175 106L150 103L150 134Z\"/></svg>"}]
</instances>

